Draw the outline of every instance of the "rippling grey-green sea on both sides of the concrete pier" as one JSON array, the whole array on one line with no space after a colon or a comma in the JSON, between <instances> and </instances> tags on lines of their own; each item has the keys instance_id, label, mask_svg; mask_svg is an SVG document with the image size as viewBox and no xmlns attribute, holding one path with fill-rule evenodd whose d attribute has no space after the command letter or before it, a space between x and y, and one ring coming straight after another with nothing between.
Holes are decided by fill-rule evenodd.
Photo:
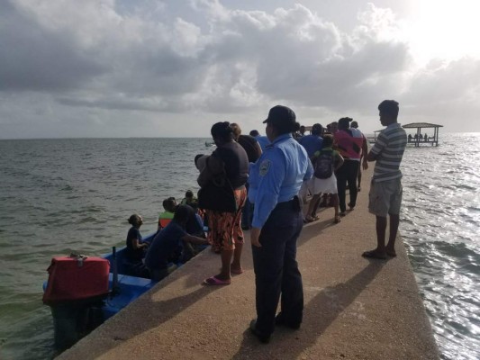
<instances>
[{"instance_id":1,"label":"rippling grey-green sea on both sides of the concrete pier","mask_svg":"<svg viewBox=\"0 0 480 360\"><path fill-rule=\"evenodd\" d=\"M1 359L55 356L41 302L51 257L122 246L133 213L153 232L163 199L197 189L206 141L0 140ZM402 170L400 231L441 358L479 359L480 133L409 147Z\"/></svg>"}]
</instances>

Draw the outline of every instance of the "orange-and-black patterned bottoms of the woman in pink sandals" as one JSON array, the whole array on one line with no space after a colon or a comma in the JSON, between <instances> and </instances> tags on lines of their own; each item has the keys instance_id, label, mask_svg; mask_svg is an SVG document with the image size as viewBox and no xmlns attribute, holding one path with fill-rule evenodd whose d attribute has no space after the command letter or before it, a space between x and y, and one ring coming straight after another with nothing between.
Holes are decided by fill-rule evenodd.
<instances>
[{"instance_id":1,"label":"orange-and-black patterned bottoms of the woman in pink sandals","mask_svg":"<svg viewBox=\"0 0 480 360\"><path fill-rule=\"evenodd\" d=\"M236 212L207 210L209 240L214 251L234 250L235 244L244 242L240 221L241 210L247 200L247 189L241 187L233 193L239 209Z\"/></svg>"}]
</instances>

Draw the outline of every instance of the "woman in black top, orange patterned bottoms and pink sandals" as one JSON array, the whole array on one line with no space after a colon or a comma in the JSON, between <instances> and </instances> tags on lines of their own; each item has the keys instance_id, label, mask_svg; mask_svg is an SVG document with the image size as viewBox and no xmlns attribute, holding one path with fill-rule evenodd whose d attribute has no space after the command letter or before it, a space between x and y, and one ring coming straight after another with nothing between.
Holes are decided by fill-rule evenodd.
<instances>
[{"instance_id":1,"label":"woman in black top, orange patterned bottoms and pink sandals","mask_svg":"<svg viewBox=\"0 0 480 360\"><path fill-rule=\"evenodd\" d=\"M231 274L243 272L240 260L244 238L240 220L247 198L249 159L234 140L228 121L215 123L211 133L217 148L198 176L201 187L198 206L207 211L212 247L220 250L222 270L205 279L204 285L227 285L231 284Z\"/></svg>"}]
</instances>

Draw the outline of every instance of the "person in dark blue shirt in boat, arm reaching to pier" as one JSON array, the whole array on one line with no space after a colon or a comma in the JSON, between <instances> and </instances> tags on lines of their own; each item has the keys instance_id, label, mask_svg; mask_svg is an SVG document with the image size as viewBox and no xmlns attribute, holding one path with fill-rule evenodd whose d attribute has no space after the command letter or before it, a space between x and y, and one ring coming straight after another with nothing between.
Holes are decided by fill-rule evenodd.
<instances>
[{"instance_id":1,"label":"person in dark blue shirt in boat, arm reaching to pier","mask_svg":"<svg viewBox=\"0 0 480 360\"><path fill-rule=\"evenodd\" d=\"M186 244L208 245L205 238L186 232L186 223L191 215L191 208L188 209L187 205L179 205L167 227L153 238L145 257L145 266L149 269L152 280L160 281L171 272L174 266L169 267L168 264L177 264L182 260Z\"/></svg>"}]
</instances>

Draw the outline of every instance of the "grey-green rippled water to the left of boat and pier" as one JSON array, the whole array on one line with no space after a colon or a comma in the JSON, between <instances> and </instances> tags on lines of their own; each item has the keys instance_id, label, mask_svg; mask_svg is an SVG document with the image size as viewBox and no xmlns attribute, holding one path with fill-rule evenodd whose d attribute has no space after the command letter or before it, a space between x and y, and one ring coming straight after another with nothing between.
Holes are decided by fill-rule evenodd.
<instances>
[{"instance_id":1,"label":"grey-green rippled water to the left of boat and pier","mask_svg":"<svg viewBox=\"0 0 480 360\"><path fill-rule=\"evenodd\" d=\"M0 141L0 358L53 356L41 284L51 257L122 246L140 213L157 229L161 202L195 190L205 139Z\"/></svg>"}]
</instances>

